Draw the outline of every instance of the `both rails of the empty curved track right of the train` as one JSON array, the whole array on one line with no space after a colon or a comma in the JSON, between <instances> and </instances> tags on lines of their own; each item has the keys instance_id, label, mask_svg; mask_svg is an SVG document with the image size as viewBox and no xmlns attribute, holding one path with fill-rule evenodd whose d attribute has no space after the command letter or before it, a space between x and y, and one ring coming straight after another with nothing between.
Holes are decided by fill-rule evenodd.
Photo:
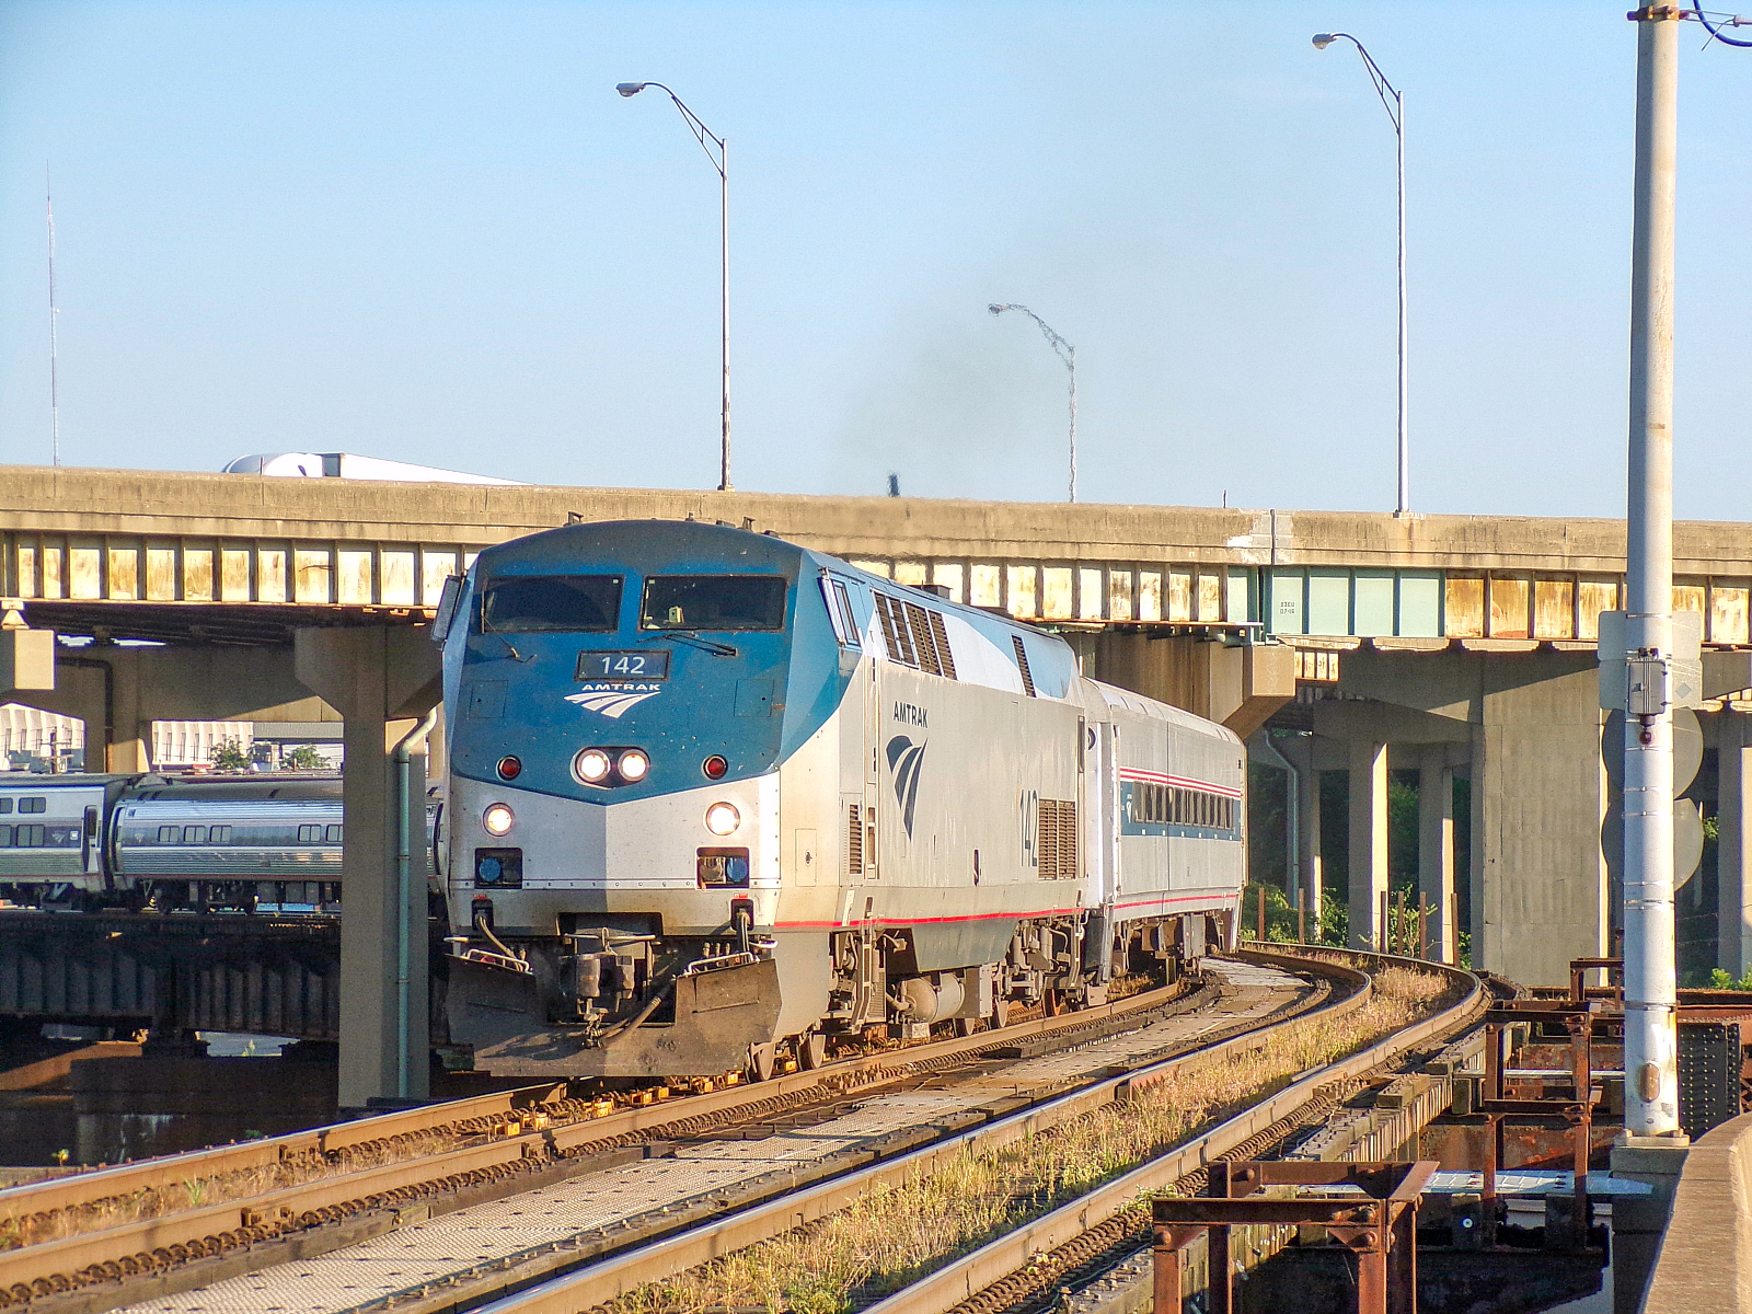
<instances>
[{"instance_id":1,"label":"both rails of the empty curved track right of the train","mask_svg":"<svg viewBox=\"0 0 1752 1314\"><path fill-rule=\"evenodd\" d=\"M1123 1249L1135 1235L1135 1202L1142 1193L1204 1186L1205 1165L1216 1158L1253 1158L1270 1151L1309 1120L1337 1107L1360 1079L1407 1049L1428 1046L1452 1035L1484 1009L1486 993L1470 972L1412 964L1381 955L1321 955L1302 958L1275 953L1247 953L1253 962L1275 964L1289 971L1316 971L1333 979L1347 979L1354 990L1326 1006L1328 1016L1361 1007L1368 997L1368 972L1395 962L1417 971L1438 971L1449 978L1452 1002L1440 1013L1370 1044L1367 1049L1300 1074L1282 1090L1242 1113L1184 1141L1176 1149L1151 1158L1137 1169L1107 1181L1093 1191L1063 1204L992 1240L971 1254L955 1258L930 1275L913 1282L864 1314L995 1314L1027 1307L1042 1291L1056 1291L1056 1282L1102 1256ZM1349 967L1342 958L1363 964ZM594 1263L578 1261L575 1272L531 1284L498 1300L478 1302L466 1291L436 1295L415 1303L391 1305L398 1314L578 1314L606 1305L652 1282L699 1268L734 1251L808 1226L844 1209L858 1197L897 1188L937 1165L946 1165L969 1151L993 1151L1025 1135L1069 1123L1095 1109L1130 1099L1153 1083L1165 1081L1195 1062L1211 1062L1226 1053L1244 1053L1270 1032L1293 1027L1307 1014L1270 1021L1186 1055L1146 1065L1125 1076L1095 1083L1081 1091L1058 1097L1027 1114L999 1120L962 1135L944 1139L895 1160L872 1165L834 1181L794 1191L780 1200L745 1209L655 1244L629 1247ZM529 1279L526 1279L529 1281Z\"/></svg>"}]
</instances>

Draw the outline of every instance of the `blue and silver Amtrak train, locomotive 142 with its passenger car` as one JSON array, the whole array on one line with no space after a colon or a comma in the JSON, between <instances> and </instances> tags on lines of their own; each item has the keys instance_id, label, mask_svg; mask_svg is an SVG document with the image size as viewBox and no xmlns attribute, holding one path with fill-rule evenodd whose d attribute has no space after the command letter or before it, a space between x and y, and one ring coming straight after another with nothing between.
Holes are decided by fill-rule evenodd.
<instances>
[{"instance_id":1,"label":"blue and silver Amtrak train, locomotive 142 with its passenger car","mask_svg":"<svg viewBox=\"0 0 1752 1314\"><path fill-rule=\"evenodd\" d=\"M447 592L450 1039L499 1074L820 1063L1233 934L1246 755L1053 634L701 522Z\"/></svg>"}]
</instances>

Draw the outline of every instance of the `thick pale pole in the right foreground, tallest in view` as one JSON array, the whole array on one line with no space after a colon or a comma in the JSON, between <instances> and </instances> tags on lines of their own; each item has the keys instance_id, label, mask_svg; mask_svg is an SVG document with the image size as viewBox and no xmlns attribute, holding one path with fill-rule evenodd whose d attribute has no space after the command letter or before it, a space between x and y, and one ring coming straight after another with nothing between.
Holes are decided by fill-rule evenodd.
<instances>
[{"instance_id":1,"label":"thick pale pole in the right foreground, tallest in view","mask_svg":"<svg viewBox=\"0 0 1752 1314\"><path fill-rule=\"evenodd\" d=\"M1678 18L1636 23L1624 646L1624 1130L1678 1130L1673 971L1673 175Z\"/></svg>"}]
</instances>

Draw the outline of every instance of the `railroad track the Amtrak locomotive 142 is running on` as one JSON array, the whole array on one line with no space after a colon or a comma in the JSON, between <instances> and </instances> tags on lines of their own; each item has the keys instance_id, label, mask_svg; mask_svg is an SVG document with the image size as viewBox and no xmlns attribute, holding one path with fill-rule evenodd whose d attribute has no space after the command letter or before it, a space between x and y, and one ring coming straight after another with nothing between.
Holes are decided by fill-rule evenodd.
<instances>
[{"instance_id":1,"label":"railroad track the Amtrak locomotive 142 is running on","mask_svg":"<svg viewBox=\"0 0 1752 1314\"><path fill-rule=\"evenodd\" d=\"M993 1055L1088 1046L1230 995L1221 985L1179 999L1155 990L1077 1014L617 1111L566 1099L562 1086L531 1086L5 1190L0 1237L14 1246L0 1251L0 1305L98 1314L275 1263L308 1263L436 1212L648 1158L664 1139L801 1120L811 1106L929 1083L957 1067L992 1067ZM1007 1111L1004 1104L1014 1109L1034 1099L1037 1091L1016 1091L997 1106ZM890 1141L867 1158L904 1148L908 1137Z\"/></svg>"}]
</instances>

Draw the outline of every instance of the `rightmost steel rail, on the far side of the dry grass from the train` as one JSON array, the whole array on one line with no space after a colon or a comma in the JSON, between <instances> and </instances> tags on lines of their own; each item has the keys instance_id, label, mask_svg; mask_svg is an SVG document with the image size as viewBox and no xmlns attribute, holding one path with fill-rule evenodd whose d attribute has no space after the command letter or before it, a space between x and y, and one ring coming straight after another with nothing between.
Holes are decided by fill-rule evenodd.
<instances>
[{"instance_id":1,"label":"rightmost steel rail, on the far side of the dry grass from the train","mask_svg":"<svg viewBox=\"0 0 1752 1314\"><path fill-rule=\"evenodd\" d=\"M1310 962L1309 958L1295 958L1282 953L1256 950L1242 950L1240 957L1268 962L1272 965ZM1472 972L1465 972L1458 967L1445 967L1442 964L1430 964L1417 958L1400 958L1396 955L1349 953L1349 957L1375 960L1382 965L1416 967L1419 971L1437 969L1456 979L1470 983L1470 988L1466 990L1465 999L1442 1013L1426 1018L1407 1030L1395 1032L1388 1039L1379 1041L1349 1058L1340 1058L1335 1063L1328 1063L1323 1069L1298 1077L1289 1086L1284 1086L1275 1095L1265 1099L1261 1104L1256 1104L1246 1113L1219 1123L1179 1149L1174 1149L1162 1158L1149 1160L1125 1176L1114 1177L1107 1184L1095 1188L1088 1195L1070 1200L1069 1204L1042 1214L1032 1223L1027 1223L1014 1232L981 1246L971 1254L937 1268L911 1286L865 1307L864 1314L946 1314L946 1310L955 1309L964 1300L978 1296L993 1282L1000 1282L1009 1277L1032 1258L1056 1251L1076 1240L1084 1232L1106 1223L1127 1205L1134 1204L1139 1195L1174 1186L1188 1174L1209 1165L1212 1160L1223 1158L1223 1155L1230 1153L1233 1148L1293 1116L1298 1109L1307 1106L1321 1088L1330 1086L1335 1081L1360 1077L1365 1072L1391 1062L1396 1055L1407 1049L1414 1049L1419 1044L1465 1027L1468 1021L1475 1020L1487 1004L1484 983Z\"/></svg>"}]
</instances>

